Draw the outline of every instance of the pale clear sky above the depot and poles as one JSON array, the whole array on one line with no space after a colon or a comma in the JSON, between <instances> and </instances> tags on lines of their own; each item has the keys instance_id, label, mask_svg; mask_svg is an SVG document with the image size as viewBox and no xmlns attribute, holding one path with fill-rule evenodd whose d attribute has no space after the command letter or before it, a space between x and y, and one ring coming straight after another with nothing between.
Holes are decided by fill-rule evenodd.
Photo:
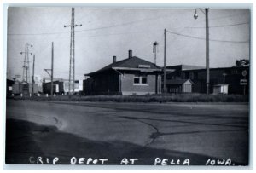
<instances>
[{"instance_id":1,"label":"pale clear sky above the depot and poles","mask_svg":"<svg viewBox=\"0 0 256 173\"><path fill-rule=\"evenodd\" d=\"M206 16L197 9L76 7L75 78L95 72L113 62L133 55L154 62L153 43L159 43L157 65L164 64L166 28L166 66L179 64L206 66ZM54 42L54 77L68 78L71 7L8 9L7 77L23 71L25 44L33 47L35 74L51 66ZM249 9L209 9L210 67L234 66L238 59L249 59ZM32 55L30 56L32 62ZM32 63L30 63L32 74ZM21 78L18 78L21 79Z\"/></svg>"}]
</instances>

